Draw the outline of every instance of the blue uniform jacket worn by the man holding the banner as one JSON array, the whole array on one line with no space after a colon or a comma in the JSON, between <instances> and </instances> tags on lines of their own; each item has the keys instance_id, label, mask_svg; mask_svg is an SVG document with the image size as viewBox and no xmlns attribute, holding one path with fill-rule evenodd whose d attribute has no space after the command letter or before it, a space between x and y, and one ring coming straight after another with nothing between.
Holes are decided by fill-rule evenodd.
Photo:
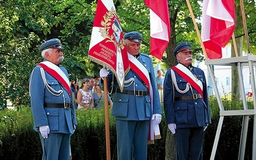
<instances>
[{"instance_id":1,"label":"blue uniform jacket worn by the man holding the banner","mask_svg":"<svg viewBox=\"0 0 256 160\"><path fill-rule=\"evenodd\" d=\"M161 104L159 100L159 93L157 90L156 79L154 77L154 68L152 66L152 60L147 54L141 54L138 57L138 61L147 68L150 81L153 90L153 114L162 114ZM127 81L128 80L128 81ZM130 69L125 76L124 90L134 89L136 91L143 90L147 91L147 87L138 79L136 74ZM112 83L113 82L113 86ZM102 87L102 86L101 86ZM119 88L113 73L108 74L108 89L109 92L113 89L113 108L112 115L118 120L150 120L152 116L152 110L150 106L150 97L145 95L138 97L135 95L128 95L124 93L115 93L115 89Z\"/></svg>"}]
</instances>

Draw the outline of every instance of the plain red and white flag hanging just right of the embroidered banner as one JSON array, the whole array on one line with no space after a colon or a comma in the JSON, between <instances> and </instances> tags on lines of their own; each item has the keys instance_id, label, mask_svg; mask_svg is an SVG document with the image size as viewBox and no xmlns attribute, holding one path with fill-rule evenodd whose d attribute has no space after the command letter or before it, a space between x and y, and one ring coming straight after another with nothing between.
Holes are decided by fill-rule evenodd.
<instances>
[{"instance_id":1,"label":"plain red and white flag hanging just right of the embroidered banner","mask_svg":"<svg viewBox=\"0 0 256 160\"><path fill-rule=\"evenodd\" d=\"M150 8L150 54L162 60L170 40L170 18L167 0L145 0Z\"/></svg>"}]
</instances>

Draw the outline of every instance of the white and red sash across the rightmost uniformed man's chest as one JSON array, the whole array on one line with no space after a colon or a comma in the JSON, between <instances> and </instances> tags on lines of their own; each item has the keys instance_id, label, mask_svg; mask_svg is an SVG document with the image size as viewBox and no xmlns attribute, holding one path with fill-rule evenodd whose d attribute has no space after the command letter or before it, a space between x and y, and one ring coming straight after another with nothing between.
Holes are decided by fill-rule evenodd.
<instances>
[{"instance_id":1,"label":"white and red sash across the rightmost uniformed man's chest","mask_svg":"<svg viewBox=\"0 0 256 160\"><path fill-rule=\"evenodd\" d=\"M195 88L195 90L204 99L202 82L199 81L187 67L179 63L178 65L173 66L172 69L175 70L179 76L183 77L189 84L191 84L191 86L193 86L193 88Z\"/></svg>"}]
</instances>

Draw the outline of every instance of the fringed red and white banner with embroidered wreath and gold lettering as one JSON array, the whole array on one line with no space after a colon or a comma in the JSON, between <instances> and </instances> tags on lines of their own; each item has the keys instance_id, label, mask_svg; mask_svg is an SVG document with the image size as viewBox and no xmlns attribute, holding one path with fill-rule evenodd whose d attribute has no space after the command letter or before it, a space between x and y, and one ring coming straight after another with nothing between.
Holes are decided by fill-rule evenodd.
<instances>
[{"instance_id":1,"label":"fringed red and white banner with embroidered wreath and gold lettering","mask_svg":"<svg viewBox=\"0 0 256 160\"><path fill-rule=\"evenodd\" d=\"M98 0L93 22L88 59L115 74L120 90L130 65L124 34L112 0Z\"/></svg>"}]
</instances>

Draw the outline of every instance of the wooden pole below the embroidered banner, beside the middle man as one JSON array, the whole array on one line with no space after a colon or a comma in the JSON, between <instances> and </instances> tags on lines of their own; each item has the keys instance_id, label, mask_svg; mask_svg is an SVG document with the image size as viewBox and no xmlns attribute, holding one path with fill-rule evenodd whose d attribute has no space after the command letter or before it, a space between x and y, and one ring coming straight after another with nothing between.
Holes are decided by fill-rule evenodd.
<instances>
[{"instance_id":1,"label":"wooden pole below the embroidered banner, beside the middle man","mask_svg":"<svg viewBox=\"0 0 256 160\"><path fill-rule=\"evenodd\" d=\"M107 79L107 77L104 77L104 107L105 107L105 129L106 129L106 159L110 160L108 79Z\"/></svg>"}]
</instances>

